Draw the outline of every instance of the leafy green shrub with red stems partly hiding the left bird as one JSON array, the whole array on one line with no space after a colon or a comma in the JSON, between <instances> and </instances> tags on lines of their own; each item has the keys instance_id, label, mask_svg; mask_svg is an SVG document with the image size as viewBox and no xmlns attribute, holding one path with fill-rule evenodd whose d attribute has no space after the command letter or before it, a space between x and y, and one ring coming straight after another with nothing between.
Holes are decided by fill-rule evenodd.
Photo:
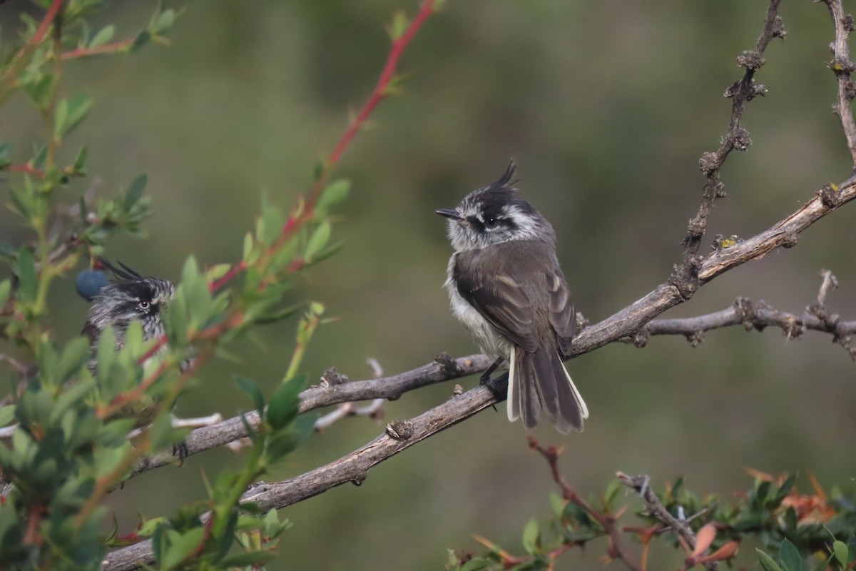
<instances>
[{"instance_id":1,"label":"leafy green shrub with red stems partly hiding the left bird","mask_svg":"<svg viewBox=\"0 0 856 571\"><path fill-rule=\"evenodd\" d=\"M42 21L21 15L20 41L3 34L0 104L19 92L41 116L45 140L0 141L0 170L9 174L9 207L28 234L19 244L0 244L0 263L10 277L0 280L0 360L17 373L15 389L0 408L3 425L18 423L9 445L0 446L3 491L0 502L0 568L95 569L108 546L152 538L161 569L259 568L274 555L276 538L288 527L276 511L259 513L241 504L247 486L288 455L312 429L298 419L298 394L306 385L301 357L322 323L324 306L288 300L298 271L335 252L330 246L330 209L348 193L346 181L324 185L283 215L264 204L256 228L243 239L241 260L203 270L189 257L175 297L163 312L166 335L144 340L139 326L128 329L121 350L107 330L92 372L89 342L51 337L48 293L81 262L92 265L108 241L124 233L144 237L149 214L146 175L138 175L112 198L80 190L86 177L86 148L67 153L66 136L92 108L83 92L64 96L62 77L80 60L137 51L166 43L177 13L163 2L133 37L114 40L113 25L93 30L86 16L106 7L98 0L43 0ZM33 148L27 152L27 148ZM322 173L323 170L319 170ZM67 285L65 287L68 287ZM186 432L173 429L170 411L181 393L193 390L194 373L216 359L255 324L303 312L294 355L280 388L265 398L253 381L236 380L235 390L259 412L247 430L252 444L239 469L207 483L207 497L180 506L169 517L140 522L134 533L105 537L110 491L128 479L144 455L176 447ZM82 325L82 324L81 324ZM15 354L13 357L12 354ZM182 363L192 362L189 367ZM134 418L122 411L151 407L155 413L133 438ZM245 420L246 422L246 420Z\"/></svg>"}]
</instances>

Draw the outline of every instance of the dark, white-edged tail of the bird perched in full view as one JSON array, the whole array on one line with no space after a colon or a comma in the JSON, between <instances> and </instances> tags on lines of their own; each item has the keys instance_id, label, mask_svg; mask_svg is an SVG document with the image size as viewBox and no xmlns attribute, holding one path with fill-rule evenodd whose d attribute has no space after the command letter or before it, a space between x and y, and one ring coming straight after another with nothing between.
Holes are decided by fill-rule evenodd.
<instances>
[{"instance_id":1,"label":"dark, white-edged tail of the bird perched in full view","mask_svg":"<svg viewBox=\"0 0 856 571\"><path fill-rule=\"evenodd\" d=\"M543 409L562 434L583 429L583 420L588 418L586 401L558 354L541 348L529 353L514 347L509 361L509 420L522 418L523 425L531 429Z\"/></svg>"}]
</instances>

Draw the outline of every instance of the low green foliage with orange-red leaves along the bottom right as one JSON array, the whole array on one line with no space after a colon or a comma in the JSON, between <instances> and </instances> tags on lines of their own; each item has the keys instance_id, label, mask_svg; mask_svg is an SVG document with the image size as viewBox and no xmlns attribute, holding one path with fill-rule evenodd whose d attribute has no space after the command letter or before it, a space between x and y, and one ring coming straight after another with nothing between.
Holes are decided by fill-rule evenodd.
<instances>
[{"instance_id":1,"label":"low green foliage with orange-red leaves along the bottom right","mask_svg":"<svg viewBox=\"0 0 856 571\"><path fill-rule=\"evenodd\" d=\"M699 495L687 490L682 479L656 494L638 510L636 521L620 525L629 508L621 498L627 489L615 480L596 497L576 497L560 481L562 496L550 496L552 518L542 525L529 520L523 529L522 553L514 555L488 539L476 537L489 550L482 555L449 552L447 569L514 569L515 571L550 569L574 547L584 548L600 538L609 539L605 561L628 569L651 568L651 546L683 550L682 569L707 568L725 562L757 562L750 568L764 571L839 571L856 568L856 498L833 490L828 496L811 474L813 493L797 491L796 474L775 479L756 473L752 488L724 501L720 497ZM643 497L650 490L639 491ZM687 540L658 517L665 509L686 525L695 538ZM627 539L640 547L633 554L623 549ZM759 545L752 556L735 559L742 544ZM704 553L710 548L710 555ZM593 549L602 550L595 547ZM635 552L639 552L636 556ZM662 554L657 554L662 555Z\"/></svg>"}]
</instances>

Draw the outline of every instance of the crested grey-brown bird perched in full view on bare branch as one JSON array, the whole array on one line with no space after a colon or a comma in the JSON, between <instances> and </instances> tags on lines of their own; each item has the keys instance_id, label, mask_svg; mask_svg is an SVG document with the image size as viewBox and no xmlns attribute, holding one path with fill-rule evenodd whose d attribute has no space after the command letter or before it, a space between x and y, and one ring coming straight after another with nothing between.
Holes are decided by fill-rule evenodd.
<instances>
[{"instance_id":1,"label":"crested grey-brown bird perched in full view on bare branch","mask_svg":"<svg viewBox=\"0 0 856 571\"><path fill-rule=\"evenodd\" d=\"M576 314L556 258L550 223L514 188L514 161L500 179L479 188L449 218L445 287L452 311L485 354L508 360L508 419L532 429L543 411L562 434L581 431L586 402L562 362L571 355Z\"/></svg>"}]
</instances>

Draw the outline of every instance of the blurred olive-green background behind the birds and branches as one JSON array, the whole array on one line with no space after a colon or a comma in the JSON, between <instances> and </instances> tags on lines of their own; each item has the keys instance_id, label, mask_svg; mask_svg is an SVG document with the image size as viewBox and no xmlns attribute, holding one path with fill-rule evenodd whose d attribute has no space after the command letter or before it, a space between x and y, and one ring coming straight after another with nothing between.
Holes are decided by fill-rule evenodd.
<instances>
[{"instance_id":1,"label":"blurred olive-green background behind the birds and branches","mask_svg":"<svg viewBox=\"0 0 856 571\"><path fill-rule=\"evenodd\" d=\"M93 27L116 22L117 39L133 35L153 5L114 3ZM68 93L85 89L95 100L64 148L70 160L86 144L90 157L91 176L73 182L68 202L88 187L116 193L146 171L151 238L116 240L107 254L172 279L189 254L205 265L239 259L263 194L288 209L306 193L313 165L377 80L389 49L384 27L397 10L413 15L418 7L392 0L183 5L171 47L65 68ZM0 7L6 41L24 6ZM378 108L335 172L353 182L335 229L346 246L306 272L294 292L295 300L323 301L338 318L312 342L310 377L336 366L368 378L368 357L392 374L440 351L476 350L441 288L450 247L433 211L494 181L510 157L520 189L556 228L577 306L592 323L663 283L698 207L698 157L728 128L722 92L740 76L735 57L754 47L766 6L449 0L405 53L401 97ZM710 217L710 240L766 229L825 182L849 175L829 112L836 88L824 64L829 14L807 2L784 3L781 14L788 39L766 53L758 80L770 93L746 112L754 144L722 170L728 198ZM0 139L14 140L23 158L44 127L23 98L3 112ZM737 296L800 312L817 294L817 272L829 268L841 281L830 306L856 318L854 217L847 205L806 231L798 247L728 272L666 316L716 311ZM15 217L0 212L0 240L22 238ZM52 300L63 340L79 333L87 311L68 278ZM207 366L178 413L251 408L231 375L241 371L273 390L293 332L293 321L269 326L235 348L244 364ZM614 344L570 363L591 411L586 431L560 437L544 426L536 436L566 449L562 469L584 495L602 491L621 470L648 473L655 487L682 475L692 489L728 502L751 485L746 467L811 470L828 489L852 489L853 363L830 341L730 328L698 348L679 337L654 338L644 349ZM385 420L420 413L451 390L442 384L389 402ZM346 419L312 436L267 479L333 461L382 430L370 419ZM240 455L215 450L132 480L110 499L120 532L131 530L136 514L170 514L177 503L204 497L201 473L239 462ZM805 478L799 485L810 491ZM285 509L294 527L270 569L437 569L447 549L482 550L473 532L519 551L523 525L549 517L553 491L521 426L510 425L504 410L487 411L374 468L360 488L342 486ZM627 503L639 507L633 497ZM605 543L592 545L564 556L559 568L599 567L604 551Z\"/></svg>"}]
</instances>

